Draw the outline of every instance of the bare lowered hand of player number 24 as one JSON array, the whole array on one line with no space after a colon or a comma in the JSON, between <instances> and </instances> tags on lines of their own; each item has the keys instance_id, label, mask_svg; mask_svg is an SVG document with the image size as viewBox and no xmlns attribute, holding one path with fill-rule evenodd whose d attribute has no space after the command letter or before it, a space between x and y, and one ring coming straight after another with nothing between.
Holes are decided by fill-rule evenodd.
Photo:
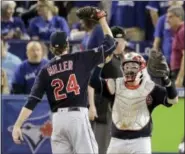
<instances>
[{"instance_id":1,"label":"bare lowered hand of player number 24","mask_svg":"<svg viewBox=\"0 0 185 154\"><path fill-rule=\"evenodd\" d=\"M20 127L14 126L12 131L12 138L15 144L21 144L21 141L23 141L23 136Z\"/></svg>"}]
</instances>

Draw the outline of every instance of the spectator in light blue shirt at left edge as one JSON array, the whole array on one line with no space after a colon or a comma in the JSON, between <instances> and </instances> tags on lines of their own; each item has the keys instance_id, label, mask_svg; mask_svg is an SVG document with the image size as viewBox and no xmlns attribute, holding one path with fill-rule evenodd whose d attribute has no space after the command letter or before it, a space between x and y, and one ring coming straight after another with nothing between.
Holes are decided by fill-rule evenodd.
<instances>
[{"instance_id":1,"label":"spectator in light blue shirt at left edge","mask_svg":"<svg viewBox=\"0 0 185 154\"><path fill-rule=\"evenodd\" d=\"M8 52L7 43L3 40L1 40L1 56L2 68L6 71L8 85L10 87L14 70L17 66L21 64L21 60L19 57Z\"/></svg>"}]
</instances>

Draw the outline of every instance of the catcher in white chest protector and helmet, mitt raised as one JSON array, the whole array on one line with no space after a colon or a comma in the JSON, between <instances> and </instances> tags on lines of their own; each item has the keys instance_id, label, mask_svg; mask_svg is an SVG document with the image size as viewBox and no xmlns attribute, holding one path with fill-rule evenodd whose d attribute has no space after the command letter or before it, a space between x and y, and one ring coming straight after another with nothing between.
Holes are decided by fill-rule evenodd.
<instances>
[{"instance_id":1,"label":"catcher in white chest protector and helmet, mitt raised","mask_svg":"<svg viewBox=\"0 0 185 154\"><path fill-rule=\"evenodd\" d=\"M161 53L151 51L148 71L163 78L165 87L162 87L150 79L144 58L130 52L123 57L123 77L102 80L104 93L109 92L110 98L115 97L108 154L151 154L152 111L160 104L170 107L178 102L176 88L168 78L167 66ZM97 85L91 83L99 91Z\"/></svg>"}]
</instances>

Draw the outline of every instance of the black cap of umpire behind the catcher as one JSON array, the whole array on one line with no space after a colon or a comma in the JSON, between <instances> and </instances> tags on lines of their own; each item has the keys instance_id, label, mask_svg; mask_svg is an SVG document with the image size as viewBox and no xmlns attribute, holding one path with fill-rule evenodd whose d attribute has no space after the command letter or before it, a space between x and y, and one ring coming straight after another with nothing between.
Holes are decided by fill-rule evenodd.
<instances>
[{"instance_id":1,"label":"black cap of umpire behind the catcher","mask_svg":"<svg viewBox=\"0 0 185 154\"><path fill-rule=\"evenodd\" d=\"M111 27L112 34L114 38L123 38L126 39L126 34L122 27L119 26L113 26Z\"/></svg>"}]
</instances>

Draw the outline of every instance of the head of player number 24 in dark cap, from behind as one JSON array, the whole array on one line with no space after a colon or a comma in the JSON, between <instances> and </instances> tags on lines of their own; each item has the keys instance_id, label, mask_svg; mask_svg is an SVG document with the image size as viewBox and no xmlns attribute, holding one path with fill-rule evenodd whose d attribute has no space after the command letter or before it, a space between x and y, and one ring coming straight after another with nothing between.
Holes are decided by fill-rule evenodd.
<instances>
[{"instance_id":1,"label":"head of player number 24 in dark cap, from behind","mask_svg":"<svg viewBox=\"0 0 185 154\"><path fill-rule=\"evenodd\" d=\"M53 32L50 36L50 50L54 55L61 55L69 45L67 34L63 31Z\"/></svg>"}]
</instances>

